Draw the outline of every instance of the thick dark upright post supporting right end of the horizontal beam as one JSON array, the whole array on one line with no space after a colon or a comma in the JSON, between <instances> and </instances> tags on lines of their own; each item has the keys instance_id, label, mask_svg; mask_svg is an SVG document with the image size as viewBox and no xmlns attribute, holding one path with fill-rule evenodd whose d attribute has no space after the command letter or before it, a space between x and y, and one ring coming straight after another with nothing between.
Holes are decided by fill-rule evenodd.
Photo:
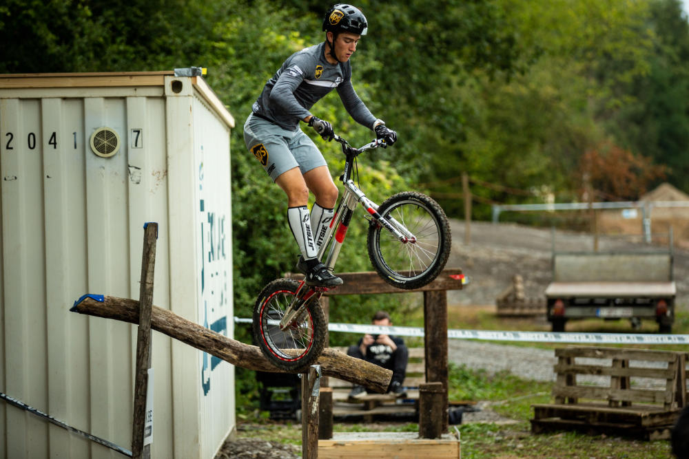
<instances>
[{"instance_id":1,"label":"thick dark upright post supporting right end of the horizontal beam","mask_svg":"<svg viewBox=\"0 0 689 459\"><path fill-rule=\"evenodd\" d=\"M426 383L442 383L442 429L447 429L447 292L424 292L424 352L426 354ZM421 429L422 427L419 427Z\"/></svg>"}]
</instances>

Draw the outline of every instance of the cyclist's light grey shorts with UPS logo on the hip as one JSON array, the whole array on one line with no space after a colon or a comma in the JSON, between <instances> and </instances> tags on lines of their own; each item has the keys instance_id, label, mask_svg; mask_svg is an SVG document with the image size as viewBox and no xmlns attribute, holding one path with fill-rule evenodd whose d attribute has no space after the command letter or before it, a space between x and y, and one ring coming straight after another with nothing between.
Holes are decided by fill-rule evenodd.
<instances>
[{"instance_id":1,"label":"cyclist's light grey shorts with UPS logo on the hip","mask_svg":"<svg viewBox=\"0 0 689 459\"><path fill-rule=\"evenodd\" d=\"M244 123L244 142L274 182L295 167L303 174L327 166L316 144L301 129L287 131L254 114Z\"/></svg>"}]
</instances>

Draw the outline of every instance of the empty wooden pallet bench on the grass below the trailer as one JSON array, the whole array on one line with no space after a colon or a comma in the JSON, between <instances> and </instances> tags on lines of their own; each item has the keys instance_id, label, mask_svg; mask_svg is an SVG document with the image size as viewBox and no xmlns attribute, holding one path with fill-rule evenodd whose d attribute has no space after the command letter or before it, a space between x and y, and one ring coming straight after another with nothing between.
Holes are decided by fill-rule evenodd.
<instances>
[{"instance_id":1,"label":"empty wooden pallet bench on the grass below the trailer","mask_svg":"<svg viewBox=\"0 0 689 459\"><path fill-rule=\"evenodd\" d=\"M573 346L556 349L555 356L555 403L532 405L533 433L574 429L648 440L669 438L670 427L687 403L689 353ZM591 364L582 358L604 360ZM639 362L663 367L639 367ZM609 383L579 385L577 375L606 376ZM635 387L633 378L650 378L657 387Z\"/></svg>"}]
</instances>

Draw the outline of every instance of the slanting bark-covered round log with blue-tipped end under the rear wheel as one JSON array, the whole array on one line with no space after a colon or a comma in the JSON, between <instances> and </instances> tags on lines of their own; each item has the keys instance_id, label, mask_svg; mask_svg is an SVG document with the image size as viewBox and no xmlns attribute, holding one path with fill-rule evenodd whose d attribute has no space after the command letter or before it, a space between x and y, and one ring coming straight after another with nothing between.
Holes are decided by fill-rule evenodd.
<instances>
[{"instance_id":1,"label":"slanting bark-covered round log with blue-tipped end under the rear wheel","mask_svg":"<svg viewBox=\"0 0 689 459\"><path fill-rule=\"evenodd\" d=\"M103 296L95 299L85 296L74 304L71 311L138 324L139 302L127 298ZM258 346L227 338L158 306L152 308L151 328L238 367L260 372L287 373L272 365ZM386 392L392 378L390 370L331 348L323 350L317 363L322 374L363 385L373 392Z\"/></svg>"}]
</instances>

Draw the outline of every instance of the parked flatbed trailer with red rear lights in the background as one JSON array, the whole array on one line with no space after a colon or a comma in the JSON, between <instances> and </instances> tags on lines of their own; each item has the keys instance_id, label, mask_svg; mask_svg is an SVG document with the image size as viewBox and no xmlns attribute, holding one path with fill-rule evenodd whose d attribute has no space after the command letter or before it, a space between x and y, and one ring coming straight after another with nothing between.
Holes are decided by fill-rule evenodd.
<instances>
[{"instance_id":1,"label":"parked flatbed trailer with red rear lights in the background","mask_svg":"<svg viewBox=\"0 0 689 459\"><path fill-rule=\"evenodd\" d=\"M599 318L658 323L671 333L677 288L672 274L672 243L667 248L557 252L553 248L553 281L546 288L547 318L553 332L567 321Z\"/></svg>"}]
</instances>

